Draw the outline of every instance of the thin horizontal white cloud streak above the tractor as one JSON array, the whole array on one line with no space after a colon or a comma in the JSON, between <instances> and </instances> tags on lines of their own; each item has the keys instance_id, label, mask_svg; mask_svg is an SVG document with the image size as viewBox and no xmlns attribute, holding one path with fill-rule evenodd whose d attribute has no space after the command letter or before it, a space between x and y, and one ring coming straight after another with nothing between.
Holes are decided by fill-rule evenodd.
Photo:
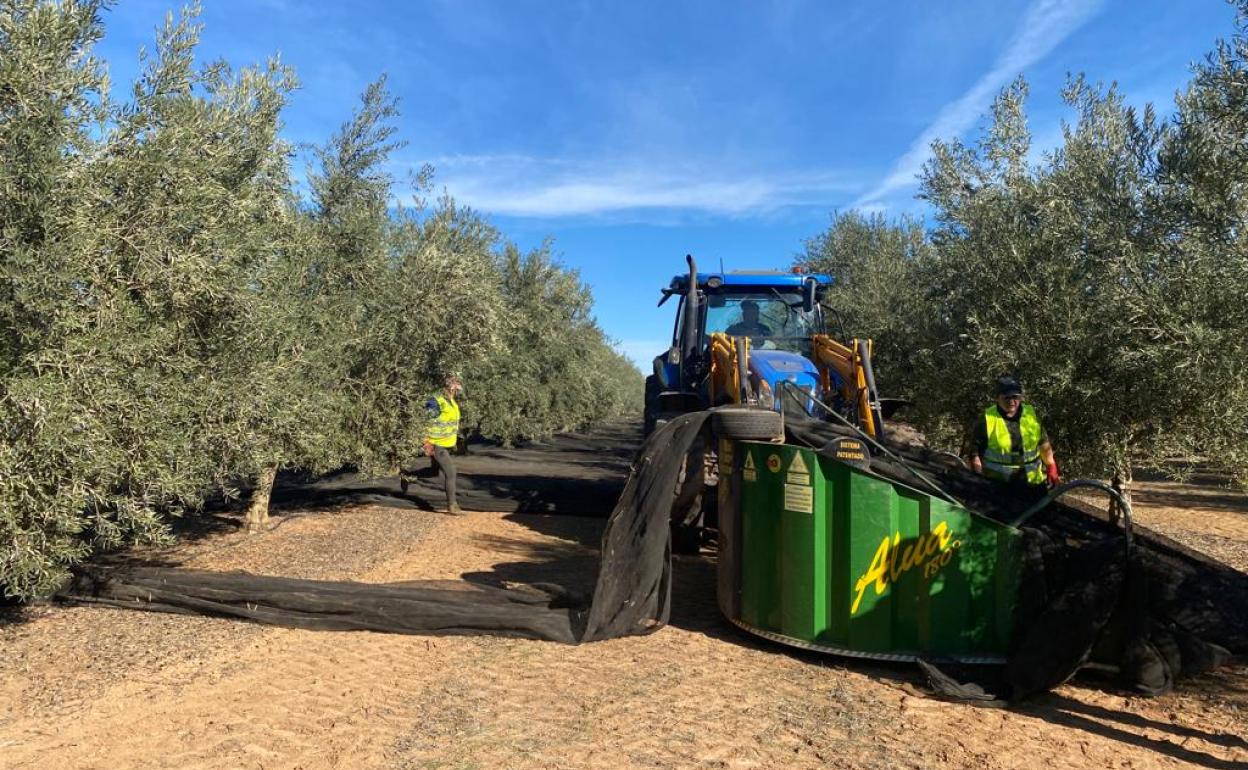
<instances>
[{"instance_id":1,"label":"thin horizontal white cloud streak above the tractor","mask_svg":"<svg viewBox=\"0 0 1248 770\"><path fill-rule=\"evenodd\" d=\"M837 173L675 167L643 160L579 163L522 155L431 161L438 186L479 211L510 216L587 216L644 208L718 215L829 206L861 188Z\"/></svg>"}]
</instances>

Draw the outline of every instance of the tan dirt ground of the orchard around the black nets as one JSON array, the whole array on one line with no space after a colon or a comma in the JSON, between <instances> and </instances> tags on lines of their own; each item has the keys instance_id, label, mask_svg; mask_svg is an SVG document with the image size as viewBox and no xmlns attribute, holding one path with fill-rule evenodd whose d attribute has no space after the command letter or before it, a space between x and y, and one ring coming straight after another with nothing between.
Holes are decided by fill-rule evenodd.
<instances>
[{"instance_id":1,"label":"tan dirt ground of the orchard around the black nets","mask_svg":"<svg viewBox=\"0 0 1248 770\"><path fill-rule=\"evenodd\" d=\"M1248 499L1147 483L1137 518L1248 570ZM597 513L597 512L584 512ZM603 519L354 505L230 517L187 567L589 589ZM1162 698L1078 680L1012 710L914 670L796 653L719 619L679 558L671 625L583 646L302 631L40 605L0 621L0 768L1248 768L1248 665Z\"/></svg>"}]
</instances>

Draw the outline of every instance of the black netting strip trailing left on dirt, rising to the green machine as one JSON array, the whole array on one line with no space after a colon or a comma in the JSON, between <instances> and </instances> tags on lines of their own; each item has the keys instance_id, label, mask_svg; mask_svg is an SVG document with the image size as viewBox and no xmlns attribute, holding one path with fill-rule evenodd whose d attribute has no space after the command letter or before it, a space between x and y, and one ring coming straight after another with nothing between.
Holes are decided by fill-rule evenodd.
<instances>
[{"instance_id":1,"label":"black netting strip trailing left on dirt, rising to the green machine","mask_svg":"<svg viewBox=\"0 0 1248 770\"><path fill-rule=\"evenodd\" d=\"M376 585L139 565L84 567L61 595L322 630L495 634L563 643L648 634L670 614L671 490L706 417L681 417L646 442L608 519L588 605L572 602L559 587L525 590L442 580Z\"/></svg>"}]
</instances>

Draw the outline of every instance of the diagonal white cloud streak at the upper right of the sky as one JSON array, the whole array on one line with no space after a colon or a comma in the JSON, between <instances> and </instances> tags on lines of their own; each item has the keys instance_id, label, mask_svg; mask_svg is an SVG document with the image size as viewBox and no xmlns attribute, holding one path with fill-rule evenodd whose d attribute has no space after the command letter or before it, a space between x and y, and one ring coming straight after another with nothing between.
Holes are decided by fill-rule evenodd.
<instances>
[{"instance_id":1,"label":"diagonal white cloud streak at the upper right of the sky","mask_svg":"<svg viewBox=\"0 0 1248 770\"><path fill-rule=\"evenodd\" d=\"M1103 0L1037 0L1027 9L1022 24L1006 51L968 91L945 105L936 120L919 135L910 150L894 165L892 171L870 192L859 197L852 207L862 208L890 193L915 185L915 177L931 156L931 144L937 139L961 136L983 115L997 91L1022 70L1040 61L1083 26Z\"/></svg>"}]
</instances>

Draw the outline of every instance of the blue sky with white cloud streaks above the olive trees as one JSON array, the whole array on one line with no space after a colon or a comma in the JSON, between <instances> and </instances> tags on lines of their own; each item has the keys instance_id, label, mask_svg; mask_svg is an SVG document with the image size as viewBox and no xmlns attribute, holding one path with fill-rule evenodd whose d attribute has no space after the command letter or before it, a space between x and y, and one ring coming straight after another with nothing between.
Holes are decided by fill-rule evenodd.
<instances>
[{"instance_id":1,"label":"blue sky with white cloud streaks above the olive trees","mask_svg":"<svg viewBox=\"0 0 1248 770\"><path fill-rule=\"evenodd\" d=\"M115 84L172 7L106 14ZM1222 0L203 0L200 55L292 65L296 142L323 142L387 74L394 173L432 163L522 247L553 237L649 371L686 252L785 267L835 211L922 216L931 140L973 135L1018 74L1040 149L1071 119L1070 72L1167 114L1233 19Z\"/></svg>"}]
</instances>

